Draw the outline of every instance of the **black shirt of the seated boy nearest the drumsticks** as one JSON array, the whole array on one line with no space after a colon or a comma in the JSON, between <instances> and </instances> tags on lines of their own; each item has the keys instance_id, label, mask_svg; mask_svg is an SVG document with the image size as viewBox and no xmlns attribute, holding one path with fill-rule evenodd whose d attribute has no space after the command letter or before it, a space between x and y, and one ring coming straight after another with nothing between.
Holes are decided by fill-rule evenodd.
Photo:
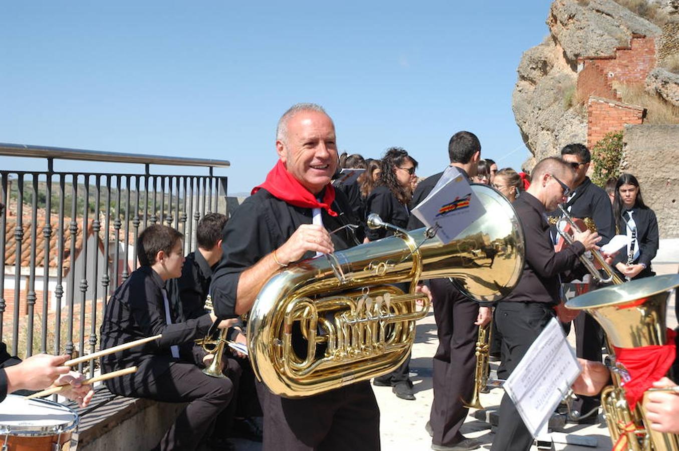
<instances>
[{"instance_id":1,"label":"black shirt of the seated boy nearest the drumsticks","mask_svg":"<svg viewBox=\"0 0 679 451\"><path fill-rule=\"evenodd\" d=\"M158 333L162 333L162 338L102 357L102 367L107 372L139 365L151 357L166 363L175 361L170 351L172 345L180 345L183 360L202 363L205 354L202 348L194 345L194 340L204 336L212 325L210 315L175 323L177 314L170 308L172 324L166 324L164 285L157 272L150 266L142 266L134 270L111 296L101 325L102 349Z\"/></svg>"}]
</instances>

